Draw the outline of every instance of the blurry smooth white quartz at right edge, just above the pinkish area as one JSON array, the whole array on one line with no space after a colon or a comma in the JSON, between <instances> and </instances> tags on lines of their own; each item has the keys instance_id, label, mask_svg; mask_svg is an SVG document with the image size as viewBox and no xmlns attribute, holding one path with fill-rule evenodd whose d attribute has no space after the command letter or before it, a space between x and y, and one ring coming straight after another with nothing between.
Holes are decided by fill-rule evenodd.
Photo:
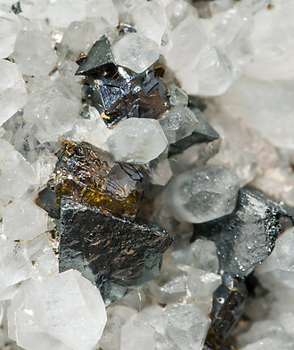
<instances>
[{"instance_id":1,"label":"blurry smooth white quartz at right edge, just above the pinkish area","mask_svg":"<svg viewBox=\"0 0 294 350\"><path fill-rule=\"evenodd\" d=\"M293 81L238 79L219 97L224 110L242 118L277 147L294 149Z\"/></svg>"}]
</instances>

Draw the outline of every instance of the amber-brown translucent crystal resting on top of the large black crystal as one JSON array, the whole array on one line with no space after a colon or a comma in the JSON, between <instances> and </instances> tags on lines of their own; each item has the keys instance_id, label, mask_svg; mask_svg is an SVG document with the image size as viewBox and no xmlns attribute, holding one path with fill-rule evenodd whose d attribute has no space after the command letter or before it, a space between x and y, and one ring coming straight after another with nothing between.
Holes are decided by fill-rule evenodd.
<instances>
[{"instance_id":1,"label":"amber-brown translucent crystal resting on top of the large black crystal","mask_svg":"<svg viewBox=\"0 0 294 350\"><path fill-rule=\"evenodd\" d=\"M110 153L87 142L62 140L57 156L53 183L37 201L49 214L56 216L56 200L67 196L112 214L135 216L143 193L142 175L135 167L117 163Z\"/></svg>"}]
</instances>

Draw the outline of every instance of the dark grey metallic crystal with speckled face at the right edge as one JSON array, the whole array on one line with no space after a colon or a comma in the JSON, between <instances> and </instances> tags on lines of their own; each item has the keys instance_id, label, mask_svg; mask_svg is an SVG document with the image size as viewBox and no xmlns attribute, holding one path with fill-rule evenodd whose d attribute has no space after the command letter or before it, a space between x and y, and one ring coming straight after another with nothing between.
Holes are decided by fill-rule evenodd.
<instances>
[{"instance_id":1,"label":"dark grey metallic crystal with speckled face at the right edge","mask_svg":"<svg viewBox=\"0 0 294 350\"><path fill-rule=\"evenodd\" d=\"M260 191L242 188L232 214L195 224L195 237L216 243L220 270L249 275L274 249L277 236L294 223L293 209Z\"/></svg>"}]
</instances>

